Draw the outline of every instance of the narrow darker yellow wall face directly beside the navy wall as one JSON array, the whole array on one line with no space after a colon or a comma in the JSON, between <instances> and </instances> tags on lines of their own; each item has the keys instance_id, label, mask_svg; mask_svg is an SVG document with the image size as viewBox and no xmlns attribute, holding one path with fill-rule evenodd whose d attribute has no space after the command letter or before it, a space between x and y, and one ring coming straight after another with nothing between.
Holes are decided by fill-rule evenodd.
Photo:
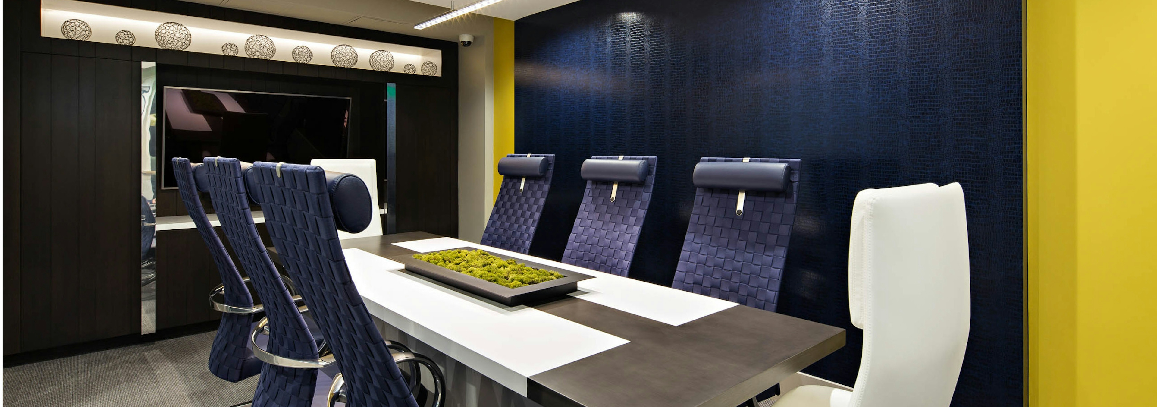
<instances>
[{"instance_id":1,"label":"narrow darker yellow wall face directly beside the navy wall","mask_svg":"<svg viewBox=\"0 0 1157 407\"><path fill-rule=\"evenodd\" d=\"M1075 406L1075 0L1025 10L1029 405Z\"/></svg>"}]
</instances>

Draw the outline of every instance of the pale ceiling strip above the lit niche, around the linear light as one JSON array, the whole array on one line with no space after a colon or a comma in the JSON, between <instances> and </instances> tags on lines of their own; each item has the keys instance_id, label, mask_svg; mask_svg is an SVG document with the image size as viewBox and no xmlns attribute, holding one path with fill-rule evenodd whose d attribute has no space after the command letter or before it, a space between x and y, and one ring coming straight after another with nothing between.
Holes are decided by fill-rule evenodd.
<instances>
[{"instance_id":1,"label":"pale ceiling strip above the lit niche, around the linear light","mask_svg":"<svg viewBox=\"0 0 1157 407\"><path fill-rule=\"evenodd\" d=\"M467 14L425 30L415 30L414 24L448 12L450 0L184 1L457 42L459 34L481 35L488 32L491 20L486 16L517 20L576 0L504 0L478 12L486 16ZM455 0L455 6L462 7L474 1Z\"/></svg>"}]
</instances>

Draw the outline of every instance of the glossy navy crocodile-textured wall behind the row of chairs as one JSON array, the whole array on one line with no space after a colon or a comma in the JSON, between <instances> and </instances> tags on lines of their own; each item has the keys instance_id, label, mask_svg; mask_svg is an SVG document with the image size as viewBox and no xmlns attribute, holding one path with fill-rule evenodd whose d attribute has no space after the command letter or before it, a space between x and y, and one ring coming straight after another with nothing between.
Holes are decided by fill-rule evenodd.
<instances>
[{"instance_id":1,"label":"glossy navy crocodile-textured wall behind the row of chairs","mask_svg":"<svg viewBox=\"0 0 1157 407\"><path fill-rule=\"evenodd\" d=\"M557 154L531 253L561 258L592 155L656 155L631 276L670 284L699 157L802 158L779 311L848 328L857 191L960 182L973 324L953 406L1022 398L1019 0L583 0L515 25L516 153Z\"/></svg>"}]
</instances>

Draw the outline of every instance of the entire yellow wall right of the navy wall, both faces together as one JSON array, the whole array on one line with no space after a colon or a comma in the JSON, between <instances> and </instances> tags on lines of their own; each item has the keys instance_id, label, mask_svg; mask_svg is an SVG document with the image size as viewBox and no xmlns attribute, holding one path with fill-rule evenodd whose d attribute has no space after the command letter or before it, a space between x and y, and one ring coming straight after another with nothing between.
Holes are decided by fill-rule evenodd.
<instances>
[{"instance_id":1,"label":"entire yellow wall right of the navy wall, both faces together","mask_svg":"<svg viewBox=\"0 0 1157 407\"><path fill-rule=\"evenodd\" d=\"M1029 402L1149 405L1157 1L1026 6Z\"/></svg>"}]
</instances>

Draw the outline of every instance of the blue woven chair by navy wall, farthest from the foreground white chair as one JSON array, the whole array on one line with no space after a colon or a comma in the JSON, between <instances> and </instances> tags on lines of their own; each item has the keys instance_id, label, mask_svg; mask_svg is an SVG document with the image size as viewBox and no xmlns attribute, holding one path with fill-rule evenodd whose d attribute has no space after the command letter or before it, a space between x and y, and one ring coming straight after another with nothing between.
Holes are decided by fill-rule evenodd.
<instances>
[{"instance_id":1,"label":"blue woven chair by navy wall, farthest from the foreground white chair","mask_svg":"<svg viewBox=\"0 0 1157 407\"><path fill-rule=\"evenodd\" d=\"M553 154L508 154L499 160L502 185L481 244L525 254L538 229L554 173Z\"/></svg>"}]
</instances>

